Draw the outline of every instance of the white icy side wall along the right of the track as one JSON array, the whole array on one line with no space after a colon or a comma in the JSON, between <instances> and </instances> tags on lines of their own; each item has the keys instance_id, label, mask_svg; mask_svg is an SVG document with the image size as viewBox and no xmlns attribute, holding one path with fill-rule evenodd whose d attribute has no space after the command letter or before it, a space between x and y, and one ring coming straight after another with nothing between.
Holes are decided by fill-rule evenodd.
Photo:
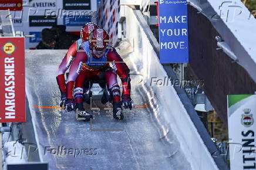
<instances>
[{"instance_id":1,"label":"white icy side wall along the right of the track","mask_svg":"<svg viewBox=\"0 0 256 170\"><path fill-rule=\"evenodd\" d=\"M164 79L167 73L159 63L149 37L143 31L134 11L126 6L125 14L127 16L126 35L133 46L133 55L130 55L130 59L136 72L144 78L144 90L149 96L151 95L151 104L154 104L154 97L157 97L156 100L159 101L160 112L156 115L156 119L164 122L161 123L163 125L162 136L165 137L171 130L180 142L180 149L177 152L183 152L186 157L183 159L189 162L191 169L218 169L176 90L172 86L151 86L152 77Z\"/></svg>"}]
</instances>

